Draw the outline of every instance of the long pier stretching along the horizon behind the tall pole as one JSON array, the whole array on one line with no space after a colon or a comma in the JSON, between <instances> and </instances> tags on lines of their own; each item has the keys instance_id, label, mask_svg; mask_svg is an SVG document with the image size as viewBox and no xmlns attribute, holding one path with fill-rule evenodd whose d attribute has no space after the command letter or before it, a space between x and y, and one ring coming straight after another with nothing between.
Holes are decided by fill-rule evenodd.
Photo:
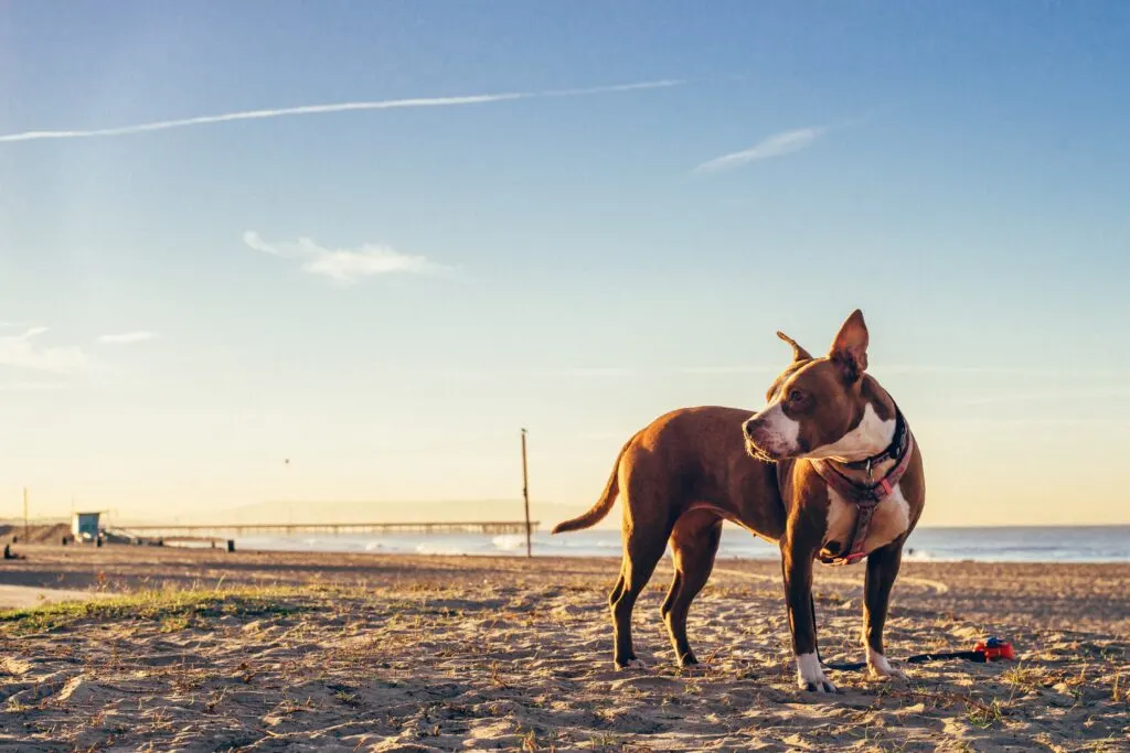
<instances>
[{"instance_id":1,"label":"long pier stretching along the horizon behind the tall pole","mask_svg":"<svg viewBox=\"0 0 1130 753\"><path fill-rule=\"evenodd\" d=\"M469 523L236 523L231 525L130 525L115 526L123 533L151 539L156 536L231 537L247 535L292 536L304 533L320 533L339 536L342 534L440 534L469 533L484 535L524 534L524 520L487 520ZM538 523L531 520L530 529L537 531Z\"/></svg>"}]
</instances>

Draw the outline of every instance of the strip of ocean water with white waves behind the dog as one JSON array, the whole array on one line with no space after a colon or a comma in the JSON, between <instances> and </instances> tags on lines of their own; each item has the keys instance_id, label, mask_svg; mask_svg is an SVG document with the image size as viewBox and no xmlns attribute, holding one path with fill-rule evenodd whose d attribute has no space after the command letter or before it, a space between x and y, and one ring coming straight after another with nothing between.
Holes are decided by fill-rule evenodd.
<instances>
[{"instance_id":1,"label":"strip of ocean water with white waves behind the dog","mask_svg":"<svg viewBox=\"0 0 1130 753\"><path fill-rule=\"evenodd\" d=\"M240 549L379 552L403 554L525 554L524 535L365 534L244 536ZM620 533L579 531L550 536L533 534L533 554L541 557L619 557ZM780 557L776 546L737 526L727 525L719 557ZM1130 562L1130 526L1041 526L991 528L918 528L904 550L904 561L956 562Z\"/></svg>"}]
</instances>

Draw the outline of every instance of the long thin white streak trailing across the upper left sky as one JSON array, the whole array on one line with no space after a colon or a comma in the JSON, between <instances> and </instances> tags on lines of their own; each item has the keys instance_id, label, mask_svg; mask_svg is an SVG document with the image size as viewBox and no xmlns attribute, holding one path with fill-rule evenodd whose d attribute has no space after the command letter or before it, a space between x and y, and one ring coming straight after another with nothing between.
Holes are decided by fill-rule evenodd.
<instances>
[{"instance_id":1,"label":"long thin white streak trailing across the upper left sky","mask_svg":"<svg viewBox=\"0 0 1130 753\"><path fill-rule=\"evenodd\" d=\"M347 113L370 110L406 110L411 107L463 107L468 105L486 105L518 99L544 99L549 97L584 97L599 94L620 91L642 91L662 89L685 84L681 79L662 79L657 81L640 81L636 84L619 84L614 86L597 86L586 89L550 89L547 91L508 91L502 94L476 94L457 97L417 97L411 99L376 99L365 102L338 102L327 105L301 105L297 107L278 107L273 110L243 110L219 115L199 115L176 120L134 123L104 129L60 130L60 131L23 131L0 134L0 143L14 141L38 141L43 139L90 139L98 137L131 135L153 131L192 128L194 125L214 125L234 121L253 121L271 117L292 117L297 115L323 115L330 113Z\"/></svg>"}]
</instances>

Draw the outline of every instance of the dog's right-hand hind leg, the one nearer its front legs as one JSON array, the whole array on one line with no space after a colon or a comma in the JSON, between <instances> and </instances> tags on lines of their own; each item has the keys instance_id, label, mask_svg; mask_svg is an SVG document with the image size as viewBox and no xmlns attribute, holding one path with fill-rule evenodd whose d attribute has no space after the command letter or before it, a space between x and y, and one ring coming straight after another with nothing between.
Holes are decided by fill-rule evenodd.
<instances>
[{"instance_id":1,"label":"dog's right-hand hind leg, the one nearer its front legs","mask_svg":"<svg viewBox=\"0 0 1130 753\"><path fill-rule=\"evenodd\" d=\"M698 664L687 640L687 612L714 569L714 555L722 537L722 520L706 510L683 515L671 532L675 578L661 612L671 636L679 666Z\"/></svg>"}]
</instances>

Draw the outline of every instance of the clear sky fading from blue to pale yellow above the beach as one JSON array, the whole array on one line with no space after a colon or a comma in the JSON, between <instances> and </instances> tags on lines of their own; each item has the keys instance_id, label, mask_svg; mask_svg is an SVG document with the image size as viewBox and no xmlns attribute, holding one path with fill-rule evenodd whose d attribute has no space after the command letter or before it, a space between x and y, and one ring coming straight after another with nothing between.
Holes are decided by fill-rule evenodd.
<instances>
[{"instance_id":1,"label":"clear sky fading from blue to pale yellow above the beach","mask_svg":"<svg viewBox=\"0 0 1130 753\"><path fill-rule=\"evenodd\" d=\"M927 523L1130 522L1128 43L1119 2L6 3L0 515L516 497L521 426L586 506L861 307Z\"/></svg>"}]
</instances>

